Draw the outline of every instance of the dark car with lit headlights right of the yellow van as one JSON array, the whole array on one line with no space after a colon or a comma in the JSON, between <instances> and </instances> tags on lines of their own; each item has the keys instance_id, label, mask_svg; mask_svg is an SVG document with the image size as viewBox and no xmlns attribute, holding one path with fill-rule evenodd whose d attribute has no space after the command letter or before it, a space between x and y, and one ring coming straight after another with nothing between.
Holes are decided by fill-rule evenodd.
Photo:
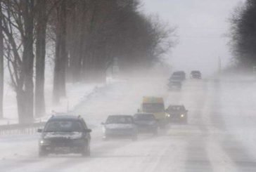
<instances>
[{"instance_id":1,"label":"dark car with lit headlights right of the yellow van","mask_svg":"<svg viewBox=\"0 0 256 172\"><path fill-rule=\"evenodd\" d=\"M188 110L184 105L169 105L166 110L167 118L169 122L183 122L187 123L188 120Z\"/></svg>"}]
</instances>

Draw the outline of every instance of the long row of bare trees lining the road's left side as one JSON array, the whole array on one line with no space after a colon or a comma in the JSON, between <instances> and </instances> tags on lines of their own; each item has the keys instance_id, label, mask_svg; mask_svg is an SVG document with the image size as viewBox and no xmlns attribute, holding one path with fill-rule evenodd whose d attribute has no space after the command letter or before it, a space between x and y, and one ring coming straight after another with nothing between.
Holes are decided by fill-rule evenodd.
<instances>
[{"instance_id":1,"label":"long row of bare trees lining the road's left side","mask_svg":"<svg viewBox=\"0 0 256 172\"><path fill-rule=\"evenodd\" d=\"M151 67L172 47L168 29L139 12L136 0L0 0L0 117L4 64L20 123L45 114L46 44L54 45L53 102L67 82L105 81L106 70ZM4 62L5 60L5 62Z\"/></svg>"}]
</instances>

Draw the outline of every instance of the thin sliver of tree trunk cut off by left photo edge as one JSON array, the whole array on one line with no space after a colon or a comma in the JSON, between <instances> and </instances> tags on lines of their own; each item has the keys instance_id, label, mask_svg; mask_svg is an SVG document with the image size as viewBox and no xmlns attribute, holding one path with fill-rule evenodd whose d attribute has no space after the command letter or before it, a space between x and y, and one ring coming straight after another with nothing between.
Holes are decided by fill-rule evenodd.
<instances>
[{"instance_id":1,"label":"thin sliver of tree trunk cut off by left photo edge","mask_svg":"<svg viewBox=\"0 0 256 172\"><path fill-rule=\"evenodd\" d=\"M0 25L2 25L2 9L0 0ZM0 27L0 119L4 117L3 113L4 100L4 33Z\"/></svg>"}]
</instances>

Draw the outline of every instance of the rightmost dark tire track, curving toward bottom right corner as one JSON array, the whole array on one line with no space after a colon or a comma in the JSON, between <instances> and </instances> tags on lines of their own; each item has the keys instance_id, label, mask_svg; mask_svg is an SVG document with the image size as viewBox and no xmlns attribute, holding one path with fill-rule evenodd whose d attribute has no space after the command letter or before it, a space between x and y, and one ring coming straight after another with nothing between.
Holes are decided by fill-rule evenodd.
<instances>
[{"instance_id":1,"label":"rightmost dark tire track, curving toward bottom right corner","mask_svg":"<svg viewBox=\"0 0 256 172\"><path fill-rule=\"evenodd\" d=\"M224 105L222 104L221 96L224 89L226 88L224 88L223 84L220 82L213 84L212 111L210 113L212 124L221 132L226 132L229 129L226 127L223 119L225 114L222 113ZM233 108L236 108L236 106L233 105ZM236 140L231 134L224 135L219 141L222 145L222 150L224 150L229 156L229 159L233 161L237 171L256 171L256 160L251 152L243 146L241 141Z\"/></svg>"}]
</instances>

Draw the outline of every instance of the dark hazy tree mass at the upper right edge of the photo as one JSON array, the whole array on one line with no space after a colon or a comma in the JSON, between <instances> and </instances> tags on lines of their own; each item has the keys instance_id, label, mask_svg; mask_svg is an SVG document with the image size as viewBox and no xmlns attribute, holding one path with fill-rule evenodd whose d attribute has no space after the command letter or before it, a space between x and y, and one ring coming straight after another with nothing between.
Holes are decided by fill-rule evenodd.
<instances>
[{"instance_id":1,"label":"dark hazy tree mass at the upper right edge of the photo","mask_svg":"<svg viewBox=\"0 0 256 172\"><path fill-rule=\"evenodd\" d=\"M256 1L247 0L232 13L231 51L236 67L252 71L256 66Z\"/></svg>"}]
</instances>

